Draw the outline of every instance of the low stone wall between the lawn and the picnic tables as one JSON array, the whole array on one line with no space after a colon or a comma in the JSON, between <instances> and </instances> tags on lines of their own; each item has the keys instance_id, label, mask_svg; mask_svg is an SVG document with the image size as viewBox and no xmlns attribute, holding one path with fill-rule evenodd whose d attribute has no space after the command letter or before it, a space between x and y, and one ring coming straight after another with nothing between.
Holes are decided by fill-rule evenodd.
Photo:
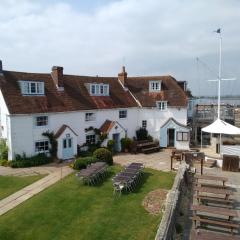
<instances>
[{"instance_id":1,"label":"low stone wall between the lawn and the picnic tables","mask_svg":"<svg viewBox=\"0 0 240 240\"><path fill-rule=\"evenodd\" d=\"M176 239L176 219L179 211L182 189L186 186L187 164L182 163L171 191L168 193L162 221L159 225L155 240L174 240Z\"/></svg>"}]
</instances>

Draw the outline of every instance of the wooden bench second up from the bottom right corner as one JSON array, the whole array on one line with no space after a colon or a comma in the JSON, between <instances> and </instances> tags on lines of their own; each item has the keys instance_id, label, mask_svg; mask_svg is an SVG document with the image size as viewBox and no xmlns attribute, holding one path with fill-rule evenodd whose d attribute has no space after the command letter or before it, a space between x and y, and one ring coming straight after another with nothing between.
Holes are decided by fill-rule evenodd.
<instances>
[{"instance_id":1,"label":"wooden bench second up from the bottom right corner","mask_svg":"<svg viewBox=\"0 0 240 240\"><path fill-rule=\"evenodd\" d=\"M193 216L192 220L195 223L195 229L197 228L197 222L201 223L205 223L205 224L209 224L209 225L216 225L216 226L220 226L223 228L230 228L231 233L233 234L233 229L238 229L239 228L239 224L234 223L232 221L228 221L228 220L218 220L218 219L210 219L207 217L203 217L203 216Z\"/></svg>"}]
</instances>

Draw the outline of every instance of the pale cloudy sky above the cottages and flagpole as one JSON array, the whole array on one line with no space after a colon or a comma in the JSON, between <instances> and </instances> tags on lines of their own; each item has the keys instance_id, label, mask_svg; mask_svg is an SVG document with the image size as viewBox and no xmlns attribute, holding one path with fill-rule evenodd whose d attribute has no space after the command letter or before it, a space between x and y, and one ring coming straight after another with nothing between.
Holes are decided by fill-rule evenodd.
<instances>
[{"instance_id":1,"label":"pale cloudy sky above the cottages and flagpole","mask_svg":"<svg viewBox=\"0 0 240 240\"><path fill-rule=\"evenodd\" d=\"M5 70L117 76L172 75L194 95L240 95L239 0L1 0ZM198 60L197 60L198 59Z\"/></svg>"}]
</instances>

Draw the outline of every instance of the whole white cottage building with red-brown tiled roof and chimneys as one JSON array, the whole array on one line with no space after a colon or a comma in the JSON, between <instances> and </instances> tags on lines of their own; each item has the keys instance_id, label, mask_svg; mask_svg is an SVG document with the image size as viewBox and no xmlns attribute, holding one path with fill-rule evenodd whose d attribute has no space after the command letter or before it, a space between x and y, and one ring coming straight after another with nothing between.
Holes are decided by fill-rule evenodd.
<instances>
[{"instance_id":1,"label":"whole white cottage building with red-brown tiled roof and chimneys","mask_svg":"<svg viewBox=\"0 0 240 240\"><path fill-rule=\"evenodd\" d=\"M173 124L166 125L167 121ZM48 152L53 131L58 158L69 159L77 146L96 141L98 128L114 139L148 130L162 147L188 148L187 97L171 76L73 76L53 67L50 74L5 71L0 61L0 137L7 140L9 159ZM107 140L103 143L106 145Z\"/></svg>"}]
</instances>

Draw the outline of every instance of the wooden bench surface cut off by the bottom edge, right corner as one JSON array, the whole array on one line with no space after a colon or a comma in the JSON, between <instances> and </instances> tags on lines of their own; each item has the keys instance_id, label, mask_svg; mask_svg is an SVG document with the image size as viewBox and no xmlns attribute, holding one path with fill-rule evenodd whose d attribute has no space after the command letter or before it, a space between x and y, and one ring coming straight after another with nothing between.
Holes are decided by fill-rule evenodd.
<instances>
[{"instance_id":1,"label":"wooden bench surface cut off by the bottom edge, right corner","mask_svg":"<svg viewBox=\"0 0 240 240\"><path fill-rule=\"evenodd\" d=\"M239 236L229 236L226 234L219 234L213 232L199 231L192 233L192 240L239 240Z\"/></svg>"}]
</instances>

